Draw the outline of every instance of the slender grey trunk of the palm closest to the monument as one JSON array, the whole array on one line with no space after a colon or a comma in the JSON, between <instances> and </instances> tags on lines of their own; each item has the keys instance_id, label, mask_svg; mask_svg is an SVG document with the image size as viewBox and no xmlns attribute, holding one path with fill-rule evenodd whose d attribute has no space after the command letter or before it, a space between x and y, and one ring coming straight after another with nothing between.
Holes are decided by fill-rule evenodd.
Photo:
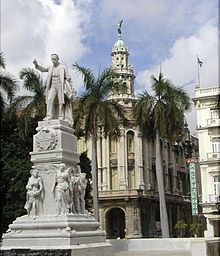
<instances>
[{"instance_id":1,"label":"slender grey trunk of the palm closest to the monument","mask_svg":"<svg viewBox=\"0 0 220 256\"><path fill-rule=\"evenodd\" d=\"M99 195L98 195L98 163L97 163L97 137L92 136L92 191L94 217L99 221Z\"/></svg>"}]
</instances>

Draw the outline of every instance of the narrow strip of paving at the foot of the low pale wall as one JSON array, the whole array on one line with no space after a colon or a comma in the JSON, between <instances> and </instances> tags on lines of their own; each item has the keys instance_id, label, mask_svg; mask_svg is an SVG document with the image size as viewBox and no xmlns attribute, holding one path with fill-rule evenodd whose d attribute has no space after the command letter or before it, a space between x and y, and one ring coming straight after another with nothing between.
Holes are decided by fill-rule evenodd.
<instances>
[{"instance_id":1,"label":"narrow strip of paving at the foot of the low pale wall","mask_svg":"<svg viewBox=\"0 0 220 256\"><path fill-rule=\"evenodd\" d=\"M186 251L125 251L114 253L113 256L191 256L191 253Z\"/></svg>"}]
</instances>

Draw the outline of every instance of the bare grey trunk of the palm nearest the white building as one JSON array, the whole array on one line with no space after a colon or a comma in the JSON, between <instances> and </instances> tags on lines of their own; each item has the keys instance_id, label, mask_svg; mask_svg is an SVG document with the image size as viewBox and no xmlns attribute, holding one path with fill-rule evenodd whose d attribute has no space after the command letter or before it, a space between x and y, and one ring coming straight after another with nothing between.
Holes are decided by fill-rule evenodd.
<instances>
[{"instance_id":1,"label":"bare grey trunk of the palm nearest the white building","mask_svg":"<svg viewBox=\"0 0 220 256\"><path fill-rule=\"evenodd\" d=\"M163 238L169 238L169 224L168 224L167 208L166 208L166 201L165 201L163 164L162 164L161 155L162 155L162 152L160 149L160 138L157 132L156 133L156 176L157 176L157 185L158 185L159 202L160 202L160 223L161 223Z\"/></svg>"}]
</instances>

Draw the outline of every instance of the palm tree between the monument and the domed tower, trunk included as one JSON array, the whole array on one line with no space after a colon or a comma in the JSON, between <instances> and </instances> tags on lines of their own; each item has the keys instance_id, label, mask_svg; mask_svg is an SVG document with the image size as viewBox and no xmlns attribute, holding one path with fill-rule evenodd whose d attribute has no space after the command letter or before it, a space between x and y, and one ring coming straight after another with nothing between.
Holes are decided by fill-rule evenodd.
<instances>
[{"instance_id":1,"label":"palm tree between the monument and the domed tower, trunk included","mask_svg":"<svg viewBox=\"0 0 220 256\"><path fill-rule=\"evenodd\" d=\"M123 92L124 86L117 80L117 74L112 69L105 69L98 78L92 70L81 67L77 63L73 65L83 75L86 92L79 98L78 108L74 118L74 128L84 129L87 138L92 137L92 188L94 217L99 220L98 213L98 180L97 180L97 138L98 129L106 137L117 130L119 122L125 122L122 106L114 100L108 100L108 96L114 92Z\"/></svg>"}]
</instances>

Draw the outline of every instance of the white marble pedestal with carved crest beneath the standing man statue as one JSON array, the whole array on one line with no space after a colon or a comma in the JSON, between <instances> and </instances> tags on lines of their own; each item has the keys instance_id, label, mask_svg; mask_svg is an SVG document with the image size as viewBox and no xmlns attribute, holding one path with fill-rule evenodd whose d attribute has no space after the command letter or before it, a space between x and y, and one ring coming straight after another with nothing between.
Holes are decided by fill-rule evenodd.
<instances>
[{"instance_id":1,"label":"white marble pedestal with carved crest beneath the standing man statue","mask_svg":"<svg viewBox=\"0 0 220 256\"><path fill-rule=\"evenodd\" d=\"M50 120L39 122L37 131L34 135L33 152L30 153L34 168L38 170L37 179L42 181L43 187L37 197L37 215L33 214L32 209L29 216L21 216L9 225L8 231L3 235L3 255L11 255L12 252L13 255L60 255L56 254L57 251L62 251L62 255L73 255L74 251L77 256L110 256L111 245L106 242L105 232L99 222L87 212L74 213L71 207L75 199L74 194L71 194L71 181L81 173L77 169L79 155L76 152L77 139L73 130L66 121ZM57 169L61 164L65 166L63 172ZM59 183L59 175L65 174L66 170L72 172L61 176L62 182ZM74 170L78 170L78 174L77 171L74 174ZM63 177L69 178L69 183L65 183ZM53 184L57 191L52 192ZM66 190L61 192L66 193L68 188L68 200L72 200L72 204L68 203L69 212L66 214L58 211L62 193L59 197L57 193L63 184L67 184ZM62 201L64 206L65 200L66 198ZM48 250L51 254L48 254ZM40 254L33 254L36 251L40 251Z\"/></svg>"}]
</instances>

